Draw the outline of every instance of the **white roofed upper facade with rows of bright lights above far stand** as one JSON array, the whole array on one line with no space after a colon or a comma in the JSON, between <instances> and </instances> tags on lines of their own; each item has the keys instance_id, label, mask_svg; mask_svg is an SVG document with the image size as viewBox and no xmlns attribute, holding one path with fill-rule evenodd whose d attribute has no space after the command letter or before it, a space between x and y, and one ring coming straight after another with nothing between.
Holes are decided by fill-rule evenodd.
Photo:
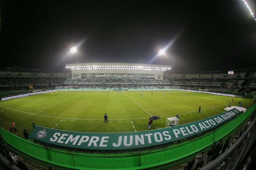
<instances>
[{"instance_id":1,"label":"white roofed upper facade with rows of bright lights above far stand","mask_svg":"<svg viewBox=\"0 0 256 170\"><path fill-rule=\"evenodd\" d=\"M132 63L78 63L66 64L72 79L77 78L127 78L163 80L171 66Z\"/></svg>"}]
</instances>

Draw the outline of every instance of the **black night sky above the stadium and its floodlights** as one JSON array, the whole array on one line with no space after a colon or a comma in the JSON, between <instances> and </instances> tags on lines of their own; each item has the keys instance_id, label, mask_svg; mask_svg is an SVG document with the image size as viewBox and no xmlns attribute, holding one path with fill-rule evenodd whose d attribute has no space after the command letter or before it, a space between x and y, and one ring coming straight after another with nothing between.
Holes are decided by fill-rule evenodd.
<instances>
[{"instance_id":1,"label":"black night sky above the stadium and its floodlights","mask_svg":"<svg viewBox=\"0 0 256 170\"><path fill-rule=\"evenodd\" d=\"M256 15L256 1L247 3ZM256 21L241 0L2 1L0 48L0 66L30 69L72 60L246 69L256 67Z\"/></svg>"}]
</instances>

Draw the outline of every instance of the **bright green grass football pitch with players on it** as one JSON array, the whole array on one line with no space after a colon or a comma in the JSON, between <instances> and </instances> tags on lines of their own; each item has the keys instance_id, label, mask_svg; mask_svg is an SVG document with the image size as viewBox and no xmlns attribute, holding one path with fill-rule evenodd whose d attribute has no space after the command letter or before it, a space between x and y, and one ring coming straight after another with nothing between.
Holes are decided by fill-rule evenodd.
<instances>
[{"instance_id":1,"label":"bright green grass football pitch with players on it","mask_svg":"<svg viewBox=\"0 0 256 170\"><path fill-rule=\"evenodd\" d=\"M38 126L81 132L128 132L148 130L151 115L160 116L152 129L164 128L166 118L180 116L179 124L201 120L224 112L232 97L182 91L58 91L10 99L0 102L4 116L1 127L9 130L16 123L16 134L23 136L23 129L32 131ZM249 98L233 98L232 105L250 107ZM198 107L201 106L201 113ZM104 123L107 113L108 123ZM15 133L15 132L13 132Z\"/></svg>"}]
</instances>

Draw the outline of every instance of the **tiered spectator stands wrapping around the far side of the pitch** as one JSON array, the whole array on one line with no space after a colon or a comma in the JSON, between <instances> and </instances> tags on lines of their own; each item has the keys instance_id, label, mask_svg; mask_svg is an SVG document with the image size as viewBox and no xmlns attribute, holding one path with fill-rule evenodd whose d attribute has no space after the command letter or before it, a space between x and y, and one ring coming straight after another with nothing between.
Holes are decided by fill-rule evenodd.
<instances>
[{"instance_id":1,"label":"tiered spectator stands wrapping around the far side of the pitch","mask_svg":"<svg viewBox=\"0 0 256 170\"><path fill-rule=\"evenodd\" d=\"M28 86L33 84L33 89L183 88L191 90L207 89L213 92L240 95L254 94L256 91L256 69L237 70L234 71L233 75L228 75L227 72L165 71L163 80L149 77L96 77L96 74L72 79L69 70L51 71L1 67L0 92L1 97L28 93Z\"/></svg>"}]
</instances>

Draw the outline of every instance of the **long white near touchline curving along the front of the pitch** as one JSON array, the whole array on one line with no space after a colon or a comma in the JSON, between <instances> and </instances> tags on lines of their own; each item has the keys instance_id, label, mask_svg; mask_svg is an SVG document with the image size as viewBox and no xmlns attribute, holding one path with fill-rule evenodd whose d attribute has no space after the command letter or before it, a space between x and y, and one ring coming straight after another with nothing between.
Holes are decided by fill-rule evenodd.
<instances>
[{"instance_id":1,"label":"long white near touchline curving along the front of the pitch","mask_svg":"<svg viewBox=\"0 0 256 170\"><path fill-rule=\"evenodd\" d=\"M240 101L242 99L239 99L237 101ZM235 102L237 102L235 101ZM234 102L234 103L235 103ZM216 107L220 107L220 106L223 106L223 105L226 105L226 104L222 104L222 105L219 105L219 106L214 106L214 107L211 107L211 108L207 108L207 109L202 109L202 110L209 110L209 109L212 109L212 108L216 108ZM8 107L4 107L4 106L0 106L0 107L3 107L3 108L6 108L6 109L9 109L9 110L13 110L13 111L16 111L16 112L20 112L20 113L26 113L26 114L30 114L30 115L35 115L35 116L43 116L43 117L49 117L49 118L58 118L58 119L71 119L71 120L92 120L92 121L100 121L102 119L74 119L74 118L63 118L63 117L54 117L54 116L46 116L46 115L39 115L39 114L34 114L34 113L28 113L28 112L23 112L23 111L20 111L20 110L15 110L15 109L11 109L11 108L8 108ZM192 112L198 112L198 110L196 111L192 111ZM192 113L192 112L186 112L186 113L179 113L179 115L183 115L183 114L187 114L187 113ZM177 114L176 114L177 115ZM160 117L168 117L168 116L176 116L176 115L167 115L167 116L160 116ZM135 119L111 119L111 121L119 121L119 120L138 120L138 119L149 119L148 117L147 118L135 118ZM109 119L110 120L110 119ZM66 120L64 120L66 121Z\"/></svg>"}]
</instances>

